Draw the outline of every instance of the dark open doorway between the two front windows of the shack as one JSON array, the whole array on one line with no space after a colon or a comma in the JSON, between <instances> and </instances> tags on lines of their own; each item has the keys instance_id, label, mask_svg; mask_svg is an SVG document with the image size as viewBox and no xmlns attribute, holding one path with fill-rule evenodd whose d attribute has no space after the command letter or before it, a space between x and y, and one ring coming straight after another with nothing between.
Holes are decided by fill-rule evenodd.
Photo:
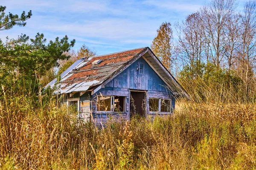
<instances>
[{"instance_id":1,"label":"dark open doorway between the two front windows of the shack","mask_svg":"<svg viewBox=\"0 0 256 170\"><path fill-rule=\"evenodd\" d=\"M131 91L130 116L145 116L145 92Z\"/></svg>"}]
</instances>

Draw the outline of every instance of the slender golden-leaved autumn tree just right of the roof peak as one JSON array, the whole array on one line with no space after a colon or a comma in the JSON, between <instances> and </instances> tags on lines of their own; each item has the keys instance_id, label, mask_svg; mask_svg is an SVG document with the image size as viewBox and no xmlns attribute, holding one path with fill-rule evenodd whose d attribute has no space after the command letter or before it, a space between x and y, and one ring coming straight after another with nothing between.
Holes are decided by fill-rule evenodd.
<instances>
[{"instance_id":1,"label":"slender golden-leaved autumn tree just right of the roof peak","mask_svg":"<svg viewBox=\"0 0 256 170\"><path fill-rule=\"evenodd\" d=\"M174 44L171 26L169 22L162 23L151 44L152 51L169 71L172 70L175 60L172 56Z\"/></svg>"}]
</instances>

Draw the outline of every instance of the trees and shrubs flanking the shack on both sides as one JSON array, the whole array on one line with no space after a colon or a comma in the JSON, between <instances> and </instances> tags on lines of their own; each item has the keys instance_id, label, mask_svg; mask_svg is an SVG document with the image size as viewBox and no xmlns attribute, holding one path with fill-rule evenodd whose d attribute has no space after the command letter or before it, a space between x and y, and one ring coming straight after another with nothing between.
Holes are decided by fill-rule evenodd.
<instances>
[{"instance_id":1,"label":"trees and shrubs flanking the shack on both sides","mask_svg":"<svg viewBox=\"0 0 256 170\"><path fill-rule=\"evenodd\" d=\"M0 31L26 26L32 16L31 11L20 16L5 11L0 6ZM39 33L34 39L22 34L0 40L0 96L5 89L36 94L77 59L96 55L86 45L74 51L74 44L67 36L48 43ZM174 23L174 29L162 23L151 49L197 101L214 96L225 101L256 99L255 1L239 10L235 0L211 0Z\"/></svg>"}]
</instances>

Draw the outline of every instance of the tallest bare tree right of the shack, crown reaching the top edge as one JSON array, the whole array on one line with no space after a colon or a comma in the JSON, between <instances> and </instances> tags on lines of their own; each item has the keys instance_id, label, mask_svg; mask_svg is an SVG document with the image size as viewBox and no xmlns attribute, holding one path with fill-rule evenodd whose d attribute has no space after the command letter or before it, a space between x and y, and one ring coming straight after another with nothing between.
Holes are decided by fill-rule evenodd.
<instances>
[{"instance_id":1,"label":"tallest bare tree right of the shack, crown reaching the top edge","mask_svg":"<svg viewBox=\"0 0 256 170\"><path fill-rule=\"evenodd\" d=\"M209 50L209 55L217 67L220 67L226 52L225 31L235 9L235 0L212 0L201 9L207 50Z\"/></svg>"}]
</instances>

